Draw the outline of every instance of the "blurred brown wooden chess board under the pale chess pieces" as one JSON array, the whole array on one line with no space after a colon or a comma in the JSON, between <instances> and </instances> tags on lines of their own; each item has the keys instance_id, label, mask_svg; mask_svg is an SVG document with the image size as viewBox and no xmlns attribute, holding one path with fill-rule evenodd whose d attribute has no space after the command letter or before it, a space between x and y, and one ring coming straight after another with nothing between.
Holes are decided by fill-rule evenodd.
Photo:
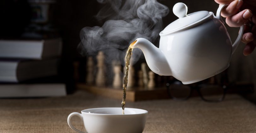
<instances>
[{"instance_id":1,"label":"blurred brown wooden chess board under the pale chess pieces","mask_svg":"<svg viewBox=\"0 0 256 133\"><path fill-rule=\"evenodd\" d=\"M78 83L76 84L76 87L77 89L87 90L95 95L101 95L119 100L123 98L123 90L121 88L115 89L111 87L98 87L84 83ZM166 88L155 88L154 90L132 88L126 91L126 101L143 101L167 98L171 97L168 95Z\"/></svg>"}]
</instances>

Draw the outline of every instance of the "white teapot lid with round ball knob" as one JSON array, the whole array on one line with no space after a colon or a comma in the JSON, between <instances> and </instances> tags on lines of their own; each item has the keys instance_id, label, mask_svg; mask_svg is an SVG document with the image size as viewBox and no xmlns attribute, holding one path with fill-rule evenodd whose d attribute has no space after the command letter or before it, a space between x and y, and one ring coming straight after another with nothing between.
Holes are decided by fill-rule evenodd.
<instances>
[{"instance_id":1,"label":"white teapot lid with round ball knob","mask_svg":"<svg viewBox=\"0 0 256 133\"><path fill-rule=\"evenodd\" d=\"M166 28L160 32L160 35L190 28L213 17L213 13L208 11L198 11L187 15L188 8L184 3L176 3L172 11L179 19L166 26Z\"/></svg>"}]
</instances>

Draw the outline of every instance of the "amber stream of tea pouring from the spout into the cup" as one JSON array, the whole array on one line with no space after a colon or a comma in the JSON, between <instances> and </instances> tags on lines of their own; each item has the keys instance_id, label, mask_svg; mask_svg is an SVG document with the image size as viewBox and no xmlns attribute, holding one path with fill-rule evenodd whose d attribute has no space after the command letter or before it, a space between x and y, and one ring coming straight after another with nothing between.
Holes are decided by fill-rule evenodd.
<instances>
[{"instance_id":1,"label":"amber stream of tea pouring from the spout into the cup","mask_svg":"<svg viewBox=\"0 0 256 133\"><path fill-rule=\"evenodd\" d=\"M129 66L130 66L130 61L131 61L131 55L132 55L132 49L133 49L133 45L137 42L137 40L135 40L134 42L132 42L126 52L125 55L125 76L124 76L124 83L123 83L123 101L122 101L122 114L125 114L125 99L126 99L126 87L127 87L127 83L128 83L128 72L129 72Z\"/></svg>"}]
</instances>

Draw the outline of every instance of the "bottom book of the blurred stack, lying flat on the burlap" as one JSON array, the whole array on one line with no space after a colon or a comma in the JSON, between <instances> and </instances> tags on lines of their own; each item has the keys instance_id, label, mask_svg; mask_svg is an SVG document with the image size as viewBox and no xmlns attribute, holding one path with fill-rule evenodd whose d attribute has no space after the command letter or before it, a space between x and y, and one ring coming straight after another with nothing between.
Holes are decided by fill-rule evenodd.
<instances>
[{"instance_id":1,"label":"bottom book of the blurred stack, lying flat on the burlap","mask_svg":"<svg viewBox=\"0 0 256 133\"><path fill-rule=\"evenodd\" d=\"M63 83L46 84L0 84L0 98L65 96Z\"/></svg>"}]
</instances>

